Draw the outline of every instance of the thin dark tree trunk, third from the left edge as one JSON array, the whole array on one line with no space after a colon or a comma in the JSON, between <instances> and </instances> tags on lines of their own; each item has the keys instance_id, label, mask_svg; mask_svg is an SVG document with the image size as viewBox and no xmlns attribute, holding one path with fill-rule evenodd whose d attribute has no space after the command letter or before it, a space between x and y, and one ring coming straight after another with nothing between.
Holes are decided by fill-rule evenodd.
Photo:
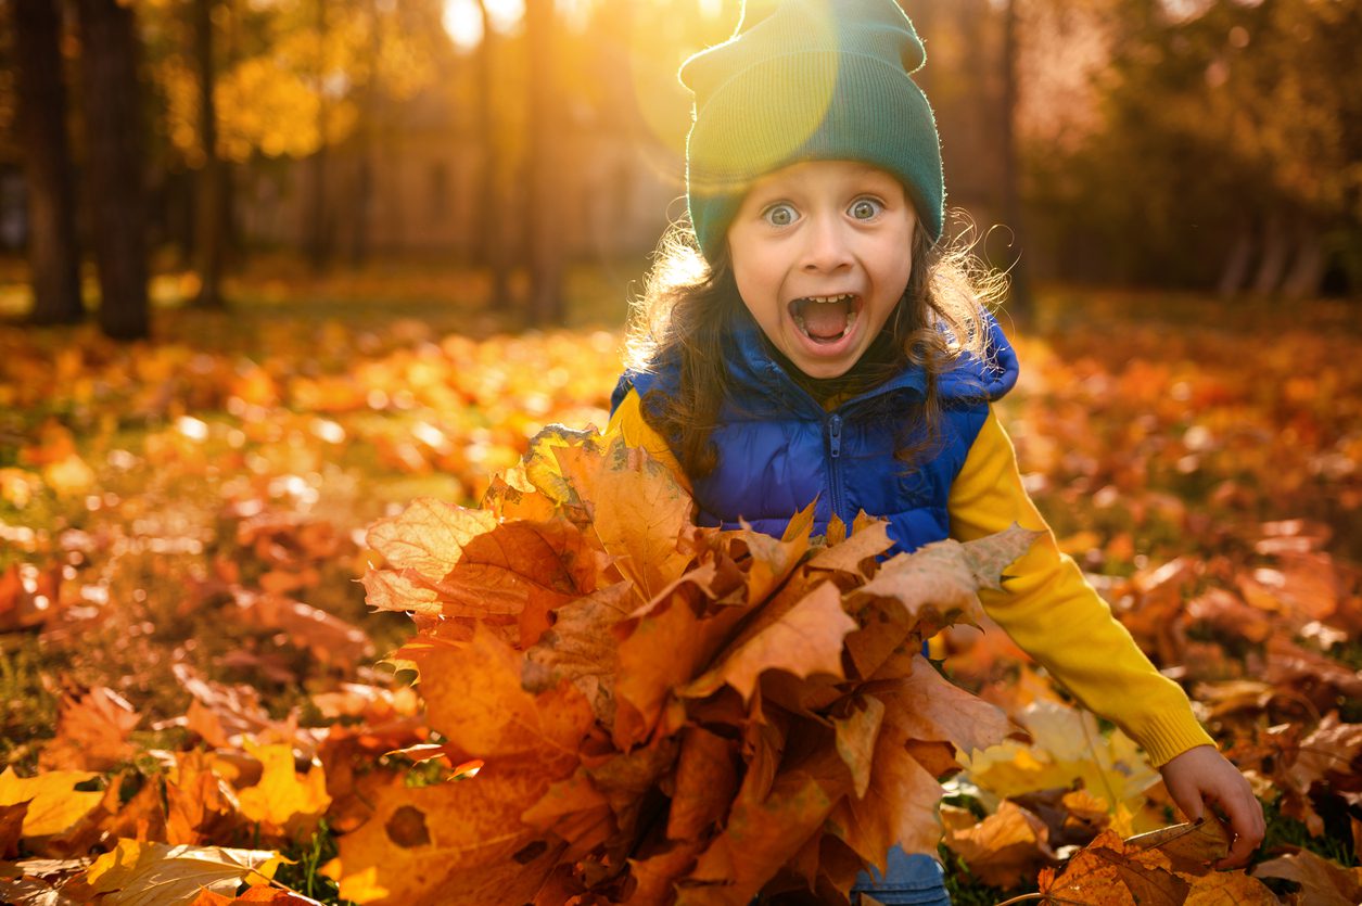
<instances>
[{"instance_id":1,"label":"thin dark tree trunk, third from the left edge","mask_svg":"<svg viewBox=\"0 0 1362 906\"><path fill-rule=\"evenodd\" d=\"M199 135L203 168L197 173L195 206L195 270L199 272L199 308L223 308L222 262L227 248L227 173L218 157L217 83L212 60L212 0L193 0L193 44L199 64Z\"/></svg>"}]
</instances>

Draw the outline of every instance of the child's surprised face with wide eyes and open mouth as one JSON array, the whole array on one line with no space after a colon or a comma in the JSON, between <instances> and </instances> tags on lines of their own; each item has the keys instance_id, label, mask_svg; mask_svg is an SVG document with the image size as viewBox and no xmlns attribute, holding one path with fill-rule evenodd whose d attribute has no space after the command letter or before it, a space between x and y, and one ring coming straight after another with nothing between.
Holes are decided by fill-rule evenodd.
<instances>
[{"instance_id":1,"label":"child's surprised face with wide eyes and open mouth","mask_svg":"<svg viewBox=\"0 0 1362 906\"><path fill-rule=\"evenodd\" d=\"M738 293L799 371L839 377L908 285L915 223L903 185L874 166L809 161L775 170L729 228Z\"/></svg>"}]
</instances>

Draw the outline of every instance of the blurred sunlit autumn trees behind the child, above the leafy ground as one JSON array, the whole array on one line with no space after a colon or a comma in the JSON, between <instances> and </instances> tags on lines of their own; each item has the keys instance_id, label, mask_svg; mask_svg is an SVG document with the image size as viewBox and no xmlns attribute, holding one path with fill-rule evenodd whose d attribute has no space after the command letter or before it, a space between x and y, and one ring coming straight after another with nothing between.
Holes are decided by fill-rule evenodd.
<instances>
[{"instance_id":1,"label":"blurred sunlit autumn trees behind the child, above the leafy ground","mask_svg":"<svg viewBox=\"0 0 1362 906\"><path fill-rule=\"evenodd\" d=\"M903 7L949 203L1013 267L1019 312L1034 281L1362 287L1362 4ZM4 311L76 317L86 262L84 302L121 337L147 330L151 278L176 277L155 302L211 307L293 266L456 270L433 298L527 323L583 302L622 316L684 210L676 69L738 16L738 0L5 0Z\"/></svg>"}]
</instances>

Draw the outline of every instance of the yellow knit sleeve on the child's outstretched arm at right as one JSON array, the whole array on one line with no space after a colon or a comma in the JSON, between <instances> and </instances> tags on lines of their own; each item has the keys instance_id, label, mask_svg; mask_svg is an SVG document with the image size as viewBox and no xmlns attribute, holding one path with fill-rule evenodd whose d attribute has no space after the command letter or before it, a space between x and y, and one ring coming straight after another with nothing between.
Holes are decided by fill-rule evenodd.
<instances>
[{"instance_id":1,"label":"yellow knit sleeve on the child's outstretched arm at right","mask_svg":"<svg viewBox=\"0 0 1362 906\"><path fill-rule=\"evenodd\" d=\"M1162 676L1117 623L1022 486L1012 441L996 413L979 431L951 486L951 537L971 541L1013 522L1045 535L1008 568L985 610L1090 710L1125 730L1156 764L1212 744L1177 683Z\"/></svg>"}]
</instances>

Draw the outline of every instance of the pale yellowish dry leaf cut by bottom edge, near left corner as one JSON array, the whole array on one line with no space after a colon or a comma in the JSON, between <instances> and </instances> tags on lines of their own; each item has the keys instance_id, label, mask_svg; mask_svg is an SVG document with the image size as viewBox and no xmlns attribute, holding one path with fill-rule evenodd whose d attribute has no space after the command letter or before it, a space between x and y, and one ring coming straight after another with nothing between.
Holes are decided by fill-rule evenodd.
<instances>
[{"instance_id":1,"label":"pale yellowish dry leaf cut by bottom edge, near left corner","mask_svg":"<svg viewBox=\"0 0 1362 906\"><path fill-rule=\"evenodd\" d=\"M120 839L113 852L94 861L84 886L121 906L165 906L189 902L200 888L234 894L242 883L267 883L282 861L270 850Z\"/></svg>"}]
</instances>

